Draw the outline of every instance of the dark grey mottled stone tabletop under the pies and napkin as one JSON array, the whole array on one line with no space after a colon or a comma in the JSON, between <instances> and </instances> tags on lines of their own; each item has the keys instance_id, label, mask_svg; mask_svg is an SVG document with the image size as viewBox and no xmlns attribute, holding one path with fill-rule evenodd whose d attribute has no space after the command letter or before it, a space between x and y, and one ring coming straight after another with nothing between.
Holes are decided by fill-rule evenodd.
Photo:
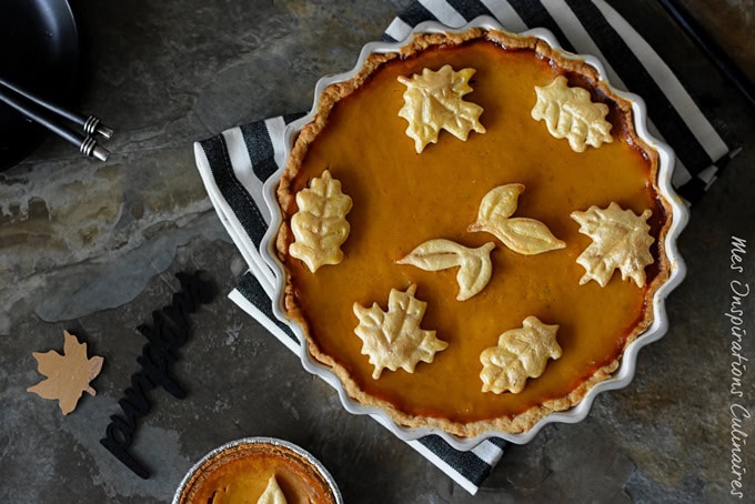
<instances>
[{"instance_id":1,"label":"dark grey mottled stone tabletop under the pies and napkin","mask_svg":"<svg viewBox=\"0 0 755 504\"><path fill-rule=\"evenodd\" d=\"M738 501L729 495L737 399L728 393L724 313L733 234L748 242L742 280L755 289L755 111L709 63L688 57L691 43L656 2L611 3L745 149L693 211L680 243L688 276L667 302L671 329L641 352L634 382L601 395L586 421L548 426L511 447L474 497L372 420L345 413L326 384L222 295L243 261L191 150L231 125L305 110L316 79L349 69L406 2L73 3L85 47L82 107L118 135L105 164L51 138L0 173L0 500L165 502L209 450L270 435L318 456L350 503ZM752 74L752 1L687 3L706 6L711 26L739 48ZM175 373L190 396L153 394L133 445L153 470L142 481L99 439L137 371L144 341L134 327L168 302L173 273L193 269L207 270L221 295L192 319L193 337L181 351ZM755 293L745 310L742 353L753 361ZM97 396L68 416L26 392L40 379L31 352L60 349L63 329L105 357ZM755 369L742 390L738 401L755 413ZM743 430L753 435L755 419ZM743 448L743 502L755 498L754 452Z\"/></svg>"}]
</instances>

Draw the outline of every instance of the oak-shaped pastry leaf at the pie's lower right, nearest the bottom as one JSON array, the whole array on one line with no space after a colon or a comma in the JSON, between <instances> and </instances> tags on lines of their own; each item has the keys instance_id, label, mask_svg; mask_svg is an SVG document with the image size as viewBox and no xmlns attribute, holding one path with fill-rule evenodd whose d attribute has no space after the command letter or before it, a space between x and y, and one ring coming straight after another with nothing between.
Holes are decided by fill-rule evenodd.
<instances>
[{"instance_id":1,"label":"oak-shaped pastry leaf at the pie's lower right, nearest the bottom","mask_svg":"<svg viewBox=\"0 0 755 504\"><path fill-rule=\"evenodd\" d=\"M544 324L536 316L527 316L522 327L499 336L499 344L480 354L482 391L519 394L528 377L543 374L548 359L561 356L556 342L557 325Z\"/></svg>"}]
</instances>

